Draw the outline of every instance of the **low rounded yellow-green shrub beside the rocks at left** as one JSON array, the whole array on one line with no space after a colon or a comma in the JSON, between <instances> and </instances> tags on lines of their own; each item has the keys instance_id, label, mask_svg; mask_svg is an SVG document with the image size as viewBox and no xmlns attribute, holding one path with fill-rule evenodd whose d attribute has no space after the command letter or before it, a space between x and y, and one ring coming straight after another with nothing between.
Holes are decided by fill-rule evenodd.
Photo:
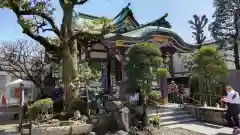
<instances>
[{"instance_id":1,"label":"low rounded yellow-green shrub beside the rocks at left","mask_svg":"<svg viewBox=\"0 0 240 135\"><path fill-rule=\"evenodd\" d=\"M32 120L42 119L53 111L51 98L40 99L28 107L28 116Z\"/></svg>"}]
</instances>

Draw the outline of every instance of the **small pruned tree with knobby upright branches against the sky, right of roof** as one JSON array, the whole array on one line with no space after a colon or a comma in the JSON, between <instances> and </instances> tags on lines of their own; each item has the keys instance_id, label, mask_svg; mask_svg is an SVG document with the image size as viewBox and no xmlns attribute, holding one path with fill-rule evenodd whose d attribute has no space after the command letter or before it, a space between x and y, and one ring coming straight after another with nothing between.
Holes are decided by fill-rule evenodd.
<instances>
[{"instance_id":1,"label":"small pruned tree with knobby upright branches against the sky, right of roof","mask_svg":"<svg viewBox=\"0 0 240 135\"><path fill-rule=\"evenodd\" d=\"M196 40L197 44L200 45L204 42L206 39L206 36L204 36L204 27L208 23L208 18L206 15L198 16L193 15L193 20L188 21L188 23L191 25L191 28L193 29L193 38ZM199 47L199 48L200 48Z\"/></svg>"}]
</instances>

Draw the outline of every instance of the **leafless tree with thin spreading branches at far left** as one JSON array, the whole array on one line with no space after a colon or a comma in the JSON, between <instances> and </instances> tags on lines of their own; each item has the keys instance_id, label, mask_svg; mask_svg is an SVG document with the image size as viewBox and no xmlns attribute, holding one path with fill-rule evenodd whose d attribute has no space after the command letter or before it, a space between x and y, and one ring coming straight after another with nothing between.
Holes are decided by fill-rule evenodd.
<instances>
[{"instance_id":1,"label":"leafless tree with thin spreading branches at far left","mask_svg":"<svg viewBox=\"0 0 240 135\"><path fill-rule=\"evenodd\" d=\"M35 41L17 40L0 43L0 69L17 78L32 81L43 93L44 77L51 63L48 54Z\"/></svg>"}]
</instances>

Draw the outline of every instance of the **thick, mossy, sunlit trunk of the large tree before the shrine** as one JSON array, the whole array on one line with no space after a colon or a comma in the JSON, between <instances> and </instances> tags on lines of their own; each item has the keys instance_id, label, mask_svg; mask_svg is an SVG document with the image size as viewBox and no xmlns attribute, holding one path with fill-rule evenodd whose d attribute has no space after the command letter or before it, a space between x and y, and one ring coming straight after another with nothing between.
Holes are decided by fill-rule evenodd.
<instances>
[{"instance_id":1,"label":"thick, mossy, sunlit trunk of the large tree before the shrine","mask_svg":"<svg viewBox=\"0 0 240 135\"><path fill-rule=\"evenodd\" d=\"M65 3L60 1L63 9L63 20L60 30L60 50L63 60L62 79L64 84L64 109L65 112L70 111L73 99L73 82L77 77L78 49L77 42L71 41L69 38L73 35L72 19L73 5L71 2Z\"/></svg>"}]
</instances>

